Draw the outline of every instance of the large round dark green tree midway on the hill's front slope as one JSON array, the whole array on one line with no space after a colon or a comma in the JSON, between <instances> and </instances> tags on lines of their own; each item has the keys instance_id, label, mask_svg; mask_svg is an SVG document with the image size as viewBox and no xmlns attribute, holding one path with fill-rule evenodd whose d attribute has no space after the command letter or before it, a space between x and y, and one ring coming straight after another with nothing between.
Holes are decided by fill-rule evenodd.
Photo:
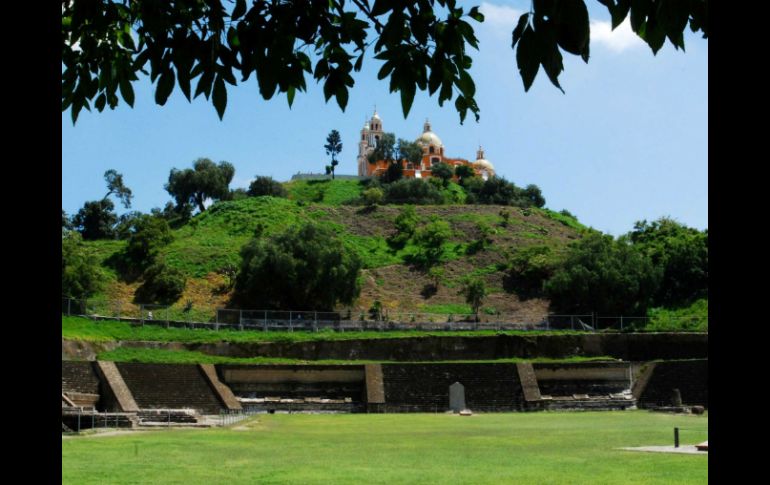
<instances>
[{"instance_id":1,"label":"large round dark green tree midway on the hill's front slope","mask_svg":"<svg viewBox=\"0 0 770 485\"><path fill-rule=\"evenodd\" d=\"M234 301L247 308L332 310L360 292L361 260L332 231L307 223L241 249Z\"/></svg>"}]
</instances>

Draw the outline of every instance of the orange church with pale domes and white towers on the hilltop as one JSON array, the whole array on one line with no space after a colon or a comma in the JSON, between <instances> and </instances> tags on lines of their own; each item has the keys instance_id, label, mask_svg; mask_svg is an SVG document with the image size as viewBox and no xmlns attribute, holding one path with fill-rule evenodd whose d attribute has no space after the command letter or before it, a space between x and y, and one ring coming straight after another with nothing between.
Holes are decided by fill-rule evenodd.
<instances>
[{"instance_id":1,"label":"orange church with pale domes and white towers on the hilltop","mask_svg":"<svg viewBox=\"0 0 770 485\"><path fill-rule=\"evenodd\" d=\"M380 115L377 114L375 109L372 118L364 123L364 127L361 130L361 139L358 141L358 175L360 177L378 177L387 171L387 161L377 160L375 163L369 163L368 158L383 134L382 119L380 119ZM481 147L476 152L476 160L474 162L464 158L447 157L444 153L444 144L441 142L441 138L431 130L430 121L428 120L425 120L422 135L415 142L422 148L422 160L417 165L402 160L400 163L404 178L430 178L431 166L439 162L445 163L453 169L458 165L469 166L476 175L484 180L495 175L495 167L489 160L484 158L484 150Z\"/></svg>"}]
</instances>

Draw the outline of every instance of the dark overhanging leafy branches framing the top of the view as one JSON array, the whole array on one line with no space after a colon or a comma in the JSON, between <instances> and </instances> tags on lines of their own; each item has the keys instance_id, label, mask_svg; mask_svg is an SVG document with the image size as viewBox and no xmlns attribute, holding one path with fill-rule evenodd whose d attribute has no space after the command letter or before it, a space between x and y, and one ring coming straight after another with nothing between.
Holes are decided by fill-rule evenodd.
<instances>
[{"instance_id":1,"label":"dark overhanging leafy branches framing the top of the view","mask_svg":"<svg viewBox=\"0 0 770 485\"><path fill-rule=\"evenodd\" d=\"M688 23L708 37L708 0L599 2L611 14L613 28L630 14L632 30L653 53L666 38L684 49ZM201 94L210 99L220 119L227 106L226 84L236 86L237 77L245 82L252 74L264 99L285 93L289 106L312 75L323 83L326 101L333 96L344 111L354 85L351 73L361 70L372 48L383 62L377 77L390 78L404 117L419 88L431 96L438 92L440 106L456 93L460 121L469 110L479 119L468 55L468 46L478 49L478 40L466 21L484 21L477 6L466 11L456 0L236 0L232 8L226 5L222 0L63 2L62 111L69 109L74 123L92 103L99 111L114 109L118 95L133 106L132 84L140 73L157 82L157 104L164 105L178 86L188 101ZM511 46L525 90L541 65L561 89L561 51L588 62L589 30L584 0L532 2L513 30Z\"/></svg>"}]
</instances>

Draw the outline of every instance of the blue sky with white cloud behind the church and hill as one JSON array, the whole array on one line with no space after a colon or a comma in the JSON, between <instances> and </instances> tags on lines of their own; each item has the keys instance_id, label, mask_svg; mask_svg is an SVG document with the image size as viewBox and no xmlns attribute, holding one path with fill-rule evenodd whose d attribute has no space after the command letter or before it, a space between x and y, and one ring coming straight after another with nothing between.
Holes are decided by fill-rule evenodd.
<instances>
[{"instance_id":1,"label":"blue sky with white cloud behind the church and hill","mask_svg":"<svg viewBox=\"0 0 770 485\"><path fill-rule=\"evenodd\" d=\"M617 236L637 220L662 216L707 228L708 41L688 30L686 53L667 42L653 56L627 23L610 32L606 12L592 3L591 59L565 54L566 94L542 70L524 92L510 36L529 2L481 3L487 19L472 22L480 49L471 51L478 123L469 114L461 125L453 101L439 107L420 92L404 119L398 93L377 81L374 59L354 75L344 113L333 99L324 102L312 79L290 109L285 96L263 100L252 76L229 87L223 121L203 97L188 103L178 89L157 106L154 86L142 80L133 109L83 111L75 126L69 111L62 113L62 208L73 214L101 198L108 169L123 174L132 209L144 212L171 200L163 185L172 168L200 157L232 163L233 188L256 175L288 180L322 172L332 129L343 141L337 173L355 174L359 132L376 104L385 131L413 139L429 118L448 156L472 160L481 143L498 175L538 185L547 207L567 209L603 232Z\"/></svg>"}]
</instances>

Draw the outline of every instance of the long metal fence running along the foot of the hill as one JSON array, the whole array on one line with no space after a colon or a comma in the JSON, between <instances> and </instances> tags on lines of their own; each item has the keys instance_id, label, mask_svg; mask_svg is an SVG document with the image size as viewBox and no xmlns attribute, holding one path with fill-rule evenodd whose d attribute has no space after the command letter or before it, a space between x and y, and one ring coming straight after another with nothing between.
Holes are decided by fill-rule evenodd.
<instances>
[{"instance_id":1,"label":"long metal fence running along the foot of the hill","mask_svg":"<svg viewBox=\"0 0 770 485\"><path fill-rule=\"evenodd\" d=\"M335 312L315 310L245 310L193 308L191 305L156 305L117 300L62 298L62 314L93 319L127 321L165 327L259 331L387 331L387 330L576 330L630 331L643 328L649 317L596 314L427 313L383 311L371 315L360 309ZM702 317L684 318L696 321Z\"/></svg>"}]
</instances>

